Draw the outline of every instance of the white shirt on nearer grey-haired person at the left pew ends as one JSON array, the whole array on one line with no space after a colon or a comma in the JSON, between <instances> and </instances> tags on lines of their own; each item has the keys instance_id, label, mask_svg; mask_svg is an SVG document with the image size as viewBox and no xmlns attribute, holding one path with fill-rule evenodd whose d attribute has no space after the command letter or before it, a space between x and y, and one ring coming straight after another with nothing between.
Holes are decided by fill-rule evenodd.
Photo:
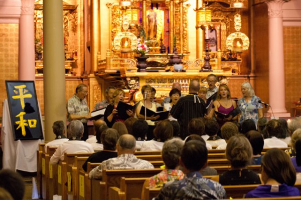
<instances>
[{"instance_id":1,"label":"white shirt on nearer grey-haired person at the left pew ends","mask_svg":"<svg viewBox=\"0 0 301 200\"><path fill-rule=\"evenodd\" d=\"M56 149L54 154L50 158L50 163L55 164L59 160L64 160L65 153L81 153L81 152L94 152L93 147L91 144L85 141L79 140L69 140L61 145Z\"/></svg>"}]
</instances>

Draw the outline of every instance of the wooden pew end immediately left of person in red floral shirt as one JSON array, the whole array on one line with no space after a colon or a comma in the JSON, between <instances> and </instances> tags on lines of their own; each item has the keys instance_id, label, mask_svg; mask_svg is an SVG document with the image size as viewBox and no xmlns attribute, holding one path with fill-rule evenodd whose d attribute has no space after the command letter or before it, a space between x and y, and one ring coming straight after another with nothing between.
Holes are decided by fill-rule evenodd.
<instances>
[{"instance_id":1,"label":"wooden pew end immediately left of person in red floral shirt","mask_svg":"<svg viewBox=\"0 0 301 200\"><path fill-rule=\"evenodd\" d=\"M120 188L109 188L109 200L126 200L132 198L140 198L144 181L148 177L140 178L120 178Z\"/></svg>"}]
</instances>

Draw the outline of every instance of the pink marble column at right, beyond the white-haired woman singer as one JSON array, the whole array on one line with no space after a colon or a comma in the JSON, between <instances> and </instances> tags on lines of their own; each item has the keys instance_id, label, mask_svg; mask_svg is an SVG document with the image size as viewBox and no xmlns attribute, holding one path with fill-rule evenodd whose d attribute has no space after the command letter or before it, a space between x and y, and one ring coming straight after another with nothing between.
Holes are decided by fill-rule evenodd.
<instances>
[{"instance_id":1,"label":"pink marble column at right, beyond the white-haired woman singer","mask_svg":"<svg viewBox=\"0 0 301 200\"><path fill-rule=\"evenodd\" d=\"M268 6L269 104L275 117L290 116L285 109L282 5L284 0L265 1ZM271 109L268 111L271 113Z\"/></svg>"}]
</instances>

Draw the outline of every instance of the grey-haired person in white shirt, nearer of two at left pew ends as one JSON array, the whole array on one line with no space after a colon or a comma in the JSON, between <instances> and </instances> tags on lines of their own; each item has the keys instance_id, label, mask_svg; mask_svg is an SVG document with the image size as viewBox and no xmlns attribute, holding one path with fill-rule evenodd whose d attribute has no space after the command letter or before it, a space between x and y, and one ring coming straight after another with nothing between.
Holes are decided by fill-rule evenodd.
<instances>
[{"instance_id":1,"label":"grey-haired person in white shirt, nearer of two at left pew ends","mask_svg":"<svg viewBox=\"0 0 301 200\"><path fill-rule=\"evenodd\" d=\"M72 120L68 125L67 132L69 141L58 146L50 158L51 164L64 160L65 153L94 152L91 144L80 139L84 132L84 125L80 120Z\"/></svg>"}]
</instances>

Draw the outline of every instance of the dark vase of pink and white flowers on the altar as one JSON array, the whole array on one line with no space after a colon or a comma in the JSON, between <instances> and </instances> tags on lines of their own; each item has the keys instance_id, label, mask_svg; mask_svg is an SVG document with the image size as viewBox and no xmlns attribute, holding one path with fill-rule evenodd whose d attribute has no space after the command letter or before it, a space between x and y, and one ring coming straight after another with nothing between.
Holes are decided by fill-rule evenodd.
<instances>
[{"instance_id":1,"label":"dark vase of pink and white flowers on the altar","mask_svg":"<svg viewBox=\"0 0 301 200\"><path fill-rule=\"evenodd\" d=\"M138 45L137 45L137 49L135 50L135 52L137 53L136 59L137 59L137 71L146 71L146 67L147 67L147 61L146 59L148 58L147 56L145 56L145 53L148 52L148 47L146 45L146 40L144 40L144 42L138 38Z\"/></svg>"}]
</instances>

